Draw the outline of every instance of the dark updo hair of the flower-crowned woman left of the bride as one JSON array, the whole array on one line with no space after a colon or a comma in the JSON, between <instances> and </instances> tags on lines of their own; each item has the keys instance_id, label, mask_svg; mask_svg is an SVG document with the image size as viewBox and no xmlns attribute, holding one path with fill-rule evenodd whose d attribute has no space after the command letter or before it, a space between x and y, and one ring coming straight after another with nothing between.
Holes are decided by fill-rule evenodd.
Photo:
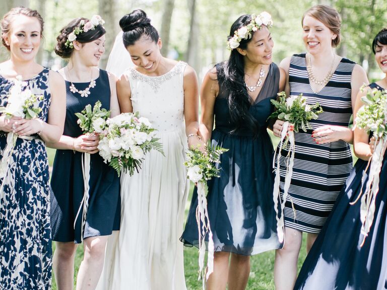
<instances>
[{"instance_id":1,"label":"dark updo hair of the flower-crowned woman left of the bride","mask_svg":"<svg viewBox=\"0 0 387 290\"><path fill-rule=\"evenodd\" d=\"M80 26L80 22L82 20L85 22L90 21L89 19L83 17L76 18L60 30L60 34L58 37L56 37L56 45L54 48L55 53L60 57L70 58L71 54L73 53L74 49L67 47L66 41L69 37L69 34L72 33L77 26ZM87 32L81 32L80 34L77 34L77 41L80 43L92 42L100 38L105 33L105 28L101 24L98 24L97 26L94 26L94 30L90 29Z\"/></svg>"}]
</instances>

